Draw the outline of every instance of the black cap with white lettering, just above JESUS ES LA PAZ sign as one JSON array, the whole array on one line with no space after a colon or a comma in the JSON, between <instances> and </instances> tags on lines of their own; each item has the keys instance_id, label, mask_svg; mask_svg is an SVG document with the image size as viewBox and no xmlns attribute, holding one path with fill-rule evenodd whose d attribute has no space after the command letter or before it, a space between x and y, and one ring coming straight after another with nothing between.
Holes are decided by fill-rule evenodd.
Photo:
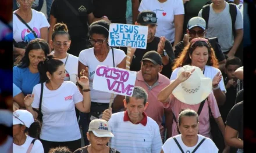
<instances>
[{"instance_id":1,"label":"black cap with white lettering, just above JESUS ES LA PAZ sign","mask_svg":"<svg viewBox=\"0 0 256 153\"><path fill-rule=\"evenodd\" d=\"M157 20L155 20L155 22L152 22L151 20L144 21L143 17L157 17L157 14L155 14L155 12L153 12L152 10L144 10L143 12L140 12L137 17L137 23L140 23L141 25L147 25L147 24L157 25Z\"/></svg>"}]
</instances>

